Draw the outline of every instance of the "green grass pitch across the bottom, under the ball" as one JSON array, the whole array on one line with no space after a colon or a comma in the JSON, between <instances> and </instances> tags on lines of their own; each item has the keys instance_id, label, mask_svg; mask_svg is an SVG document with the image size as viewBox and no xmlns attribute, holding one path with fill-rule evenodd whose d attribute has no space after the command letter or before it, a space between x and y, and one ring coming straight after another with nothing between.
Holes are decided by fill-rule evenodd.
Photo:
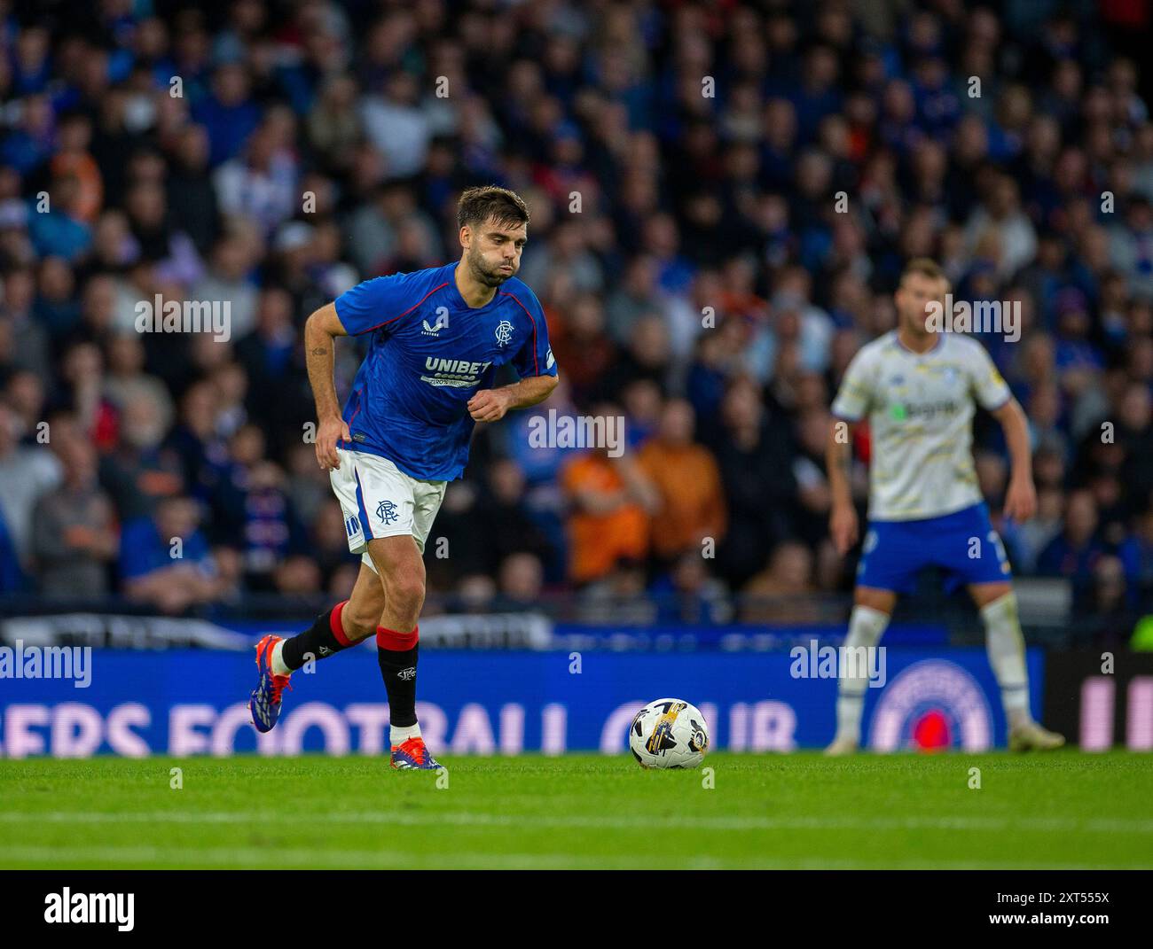
<instances>
[{"instance_id":1,"label":"green grass pitch across the bottom, under the ball","mask_svg":"<svg viewBox=\"0 0 1153 949\"><path fill-rule=\"evenodd\" d=\"M1153 867L1148 754L716 753L713 788L625 756L444 764L438 788L376 758L0 761L0 866Z\"/></svg>"}]
</instances>

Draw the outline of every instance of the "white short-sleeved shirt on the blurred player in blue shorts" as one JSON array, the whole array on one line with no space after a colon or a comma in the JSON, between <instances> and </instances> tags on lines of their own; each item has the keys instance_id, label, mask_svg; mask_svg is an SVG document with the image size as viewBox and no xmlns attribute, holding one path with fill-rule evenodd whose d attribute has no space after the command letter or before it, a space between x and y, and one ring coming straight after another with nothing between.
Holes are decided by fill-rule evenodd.
<instances>
[{"instance_id":1,"label":"white short-sleeved shirt on the blurred player in blue shorts","mask_svg":"<svg viewBox=\"0 0 1153 949\"><path fill-rule=\"evenodd\" d=\"M974 400L992 410L1010 398L989 354L970 336L940 333L933 349L917 354L892 331L862 347L832 413L868 416L869 519L940 517L978 503Z\"/></svg>"}]
</instances>

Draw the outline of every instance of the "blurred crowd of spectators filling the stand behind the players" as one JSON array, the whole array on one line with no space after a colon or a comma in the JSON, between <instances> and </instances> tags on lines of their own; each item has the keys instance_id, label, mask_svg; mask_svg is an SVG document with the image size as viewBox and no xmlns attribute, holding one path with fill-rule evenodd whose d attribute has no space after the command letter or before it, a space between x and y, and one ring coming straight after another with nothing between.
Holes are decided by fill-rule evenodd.
<instances>
[{"instance_id":1,"label":"blurred crowd of spectators filling the stand behind the players","mask_svg":"<svg viewBox=\"0 0 1153 949\"><path fill-rule=\"evenodd\" d=\"M828 407L927 256L959 298L1020 304L1020 340L982 342L1031 419L1033 522L1001 523L990 419L977 441L1015 570L1131 630L1153 612L1151 20L1148 0L0 0L0 589L174 614L347 595L303 320L458 257L455 196L499 183L532 211L520 276L562 385L478 427L430 609L575 592L615 622L623 602L762 621L847 590ZM227 302L231 339L136 332L157 294ZM624 416L628 450L533 447L553 409Z\"/></svg>"}]
</instances>

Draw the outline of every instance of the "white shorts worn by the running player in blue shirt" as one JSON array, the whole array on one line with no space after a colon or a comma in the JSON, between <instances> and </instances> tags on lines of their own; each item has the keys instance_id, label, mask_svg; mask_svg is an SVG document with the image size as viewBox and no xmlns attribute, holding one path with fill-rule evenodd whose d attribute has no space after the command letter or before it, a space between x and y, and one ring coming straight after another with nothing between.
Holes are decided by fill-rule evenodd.
<instances>
[{"instance_id":1,"label":"white shorts worn by the running player in blue shirt","mask_svg":"<svg viewBox=\"0 0 1153 949\"><path fill-rule=\"evenodd\" d=\"M422 481L387 458L338 448L340 468L329 472L345 514L348 549L376 571L368 541L412 534L424 553L424 541L440 509L447 481Z\"/></svg>"}]
</instances>

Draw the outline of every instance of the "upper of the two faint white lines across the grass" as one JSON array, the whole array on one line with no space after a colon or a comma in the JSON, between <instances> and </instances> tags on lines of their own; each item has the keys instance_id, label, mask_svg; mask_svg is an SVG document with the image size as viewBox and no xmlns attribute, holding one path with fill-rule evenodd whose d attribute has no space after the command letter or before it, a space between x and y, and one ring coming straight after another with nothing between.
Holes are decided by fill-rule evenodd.
<instances>
[{"instance_id":1,"label":"upper of the two faint white lines across the grass","mask_svg":"<svg viewBox=\"0 0 1153 949\"><path fill-rule=\"evenodd\" d=\"M278 812L279 819L292 817L291 811ZM1153 834L1153 820L1111 818L993 818L993 817L707 817L668 818L657 815L515 815L476 814L462 812L392 812L366 811L330 814L302 814L308 823L332 825L399 825L423 827L454 825L458 827L555 827L604 830L1037 830L1082 832L1092 834ZM0 823L253 823L258 819L235 811L148 811L148 812L90 812L90 811L6 811L0 812Z\"/></svg>"}]
</instances>

